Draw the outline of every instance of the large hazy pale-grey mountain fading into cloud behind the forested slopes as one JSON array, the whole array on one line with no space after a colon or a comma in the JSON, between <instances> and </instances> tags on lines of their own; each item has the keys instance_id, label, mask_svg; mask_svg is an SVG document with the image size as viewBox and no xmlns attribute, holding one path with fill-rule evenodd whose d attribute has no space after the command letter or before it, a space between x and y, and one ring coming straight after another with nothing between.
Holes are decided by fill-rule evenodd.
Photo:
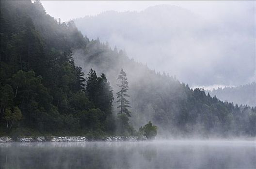
<instances>
[{"instance_id":1,"label":"large hazy pale-grey mountain fading into cloud behind the forested slopes","mask_svg":"<svg viewBox=\"0 0 256 169\"><path fill-rule=\"evenodd\" d=\"M191 86L240 85L255 77L254 16L248 10L240 18L217 22L185 8L157 5L141 12L108 11L74 22L89 39L99 37L150 69L176 75ZM234 69L238 67L246 69Z\"/></svg>"}]
</instances>

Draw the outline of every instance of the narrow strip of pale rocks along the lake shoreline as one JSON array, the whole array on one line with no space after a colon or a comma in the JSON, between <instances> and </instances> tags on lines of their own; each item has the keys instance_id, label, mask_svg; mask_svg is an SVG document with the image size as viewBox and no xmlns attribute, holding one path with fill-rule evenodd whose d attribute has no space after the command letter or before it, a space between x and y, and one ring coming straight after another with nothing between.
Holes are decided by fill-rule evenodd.
<instances>
[{"instance_id":1,"label":"narrow strip of pale rocks along the lake shoreline","mask_svg":"<svg viewBox=\"0 0 256 169\"><path fill-rule=\"evenodd\" d=\"M38 136L38 137L18 137L12 139L11 137L0 137L0 142L89 142L89 141L145 141L146 137L140 138L138 136L106 136L101 139L88 139L84 136Z\"/></svg>"}]
</instances>

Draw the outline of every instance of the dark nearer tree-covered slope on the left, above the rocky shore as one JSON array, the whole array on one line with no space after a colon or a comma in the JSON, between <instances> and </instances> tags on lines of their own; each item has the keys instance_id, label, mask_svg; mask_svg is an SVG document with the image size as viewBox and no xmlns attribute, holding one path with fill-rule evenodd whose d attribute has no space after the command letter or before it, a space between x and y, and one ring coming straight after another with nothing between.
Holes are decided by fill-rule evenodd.
<instances>
[{"instance_id":1,"label":"dark nearer tree-covered slope on the left, above the rocky shore","mask_svg":"<svg viewBox=\"0 0 256 169\"><path fill-rule=\"evenodd\" d=\"M38 1L1 1L0 19L1 133L112 133L112 89L103 73L90 83L93 70L85 86L72 50L88 39L74 24Z\"/></svg>"}]
</instances>

